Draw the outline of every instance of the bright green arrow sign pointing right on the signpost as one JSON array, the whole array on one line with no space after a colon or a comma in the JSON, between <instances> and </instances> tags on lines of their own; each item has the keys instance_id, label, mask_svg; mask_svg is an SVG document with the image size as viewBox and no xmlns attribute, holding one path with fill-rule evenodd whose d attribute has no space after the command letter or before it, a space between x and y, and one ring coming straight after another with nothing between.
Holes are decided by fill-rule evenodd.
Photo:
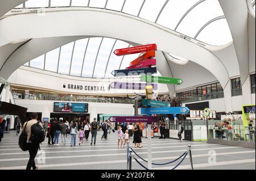
<instances>
[{"instance_id":1,"label":"bright green arrow sign pointing right on the signpost","mask_svg":"<svg viewBox=\"0 0 256 181\"><path fill-rule=\"evenodd\" d=\"M141 75L141 82L155 82L155 83L168 83L168 84L180 85L183 81L180 78Z\"/></svg>"}]
</instances>

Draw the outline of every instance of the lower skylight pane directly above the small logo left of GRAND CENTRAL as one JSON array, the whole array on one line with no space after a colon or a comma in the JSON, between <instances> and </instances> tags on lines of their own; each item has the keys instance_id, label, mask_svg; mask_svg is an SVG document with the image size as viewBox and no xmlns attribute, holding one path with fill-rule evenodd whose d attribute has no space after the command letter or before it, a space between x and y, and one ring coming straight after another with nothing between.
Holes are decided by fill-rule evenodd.
<instances>
[{"instance_id":1,"label":"lower skylight pane directly above the small logo left of GRAND CENTRAL","mask_svg":"<svg viewBox=\"0 0 256 181\"><path fill-rule=\"evenodd\" d=\"M74 42L61 47L58 73L69 74Z\"/></svg>"}]
</instances>

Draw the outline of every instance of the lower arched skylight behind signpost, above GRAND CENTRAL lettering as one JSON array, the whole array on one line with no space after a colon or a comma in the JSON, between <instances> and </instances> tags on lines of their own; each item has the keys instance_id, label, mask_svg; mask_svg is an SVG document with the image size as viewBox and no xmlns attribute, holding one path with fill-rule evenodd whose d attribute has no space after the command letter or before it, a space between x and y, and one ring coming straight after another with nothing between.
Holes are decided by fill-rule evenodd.
<instances>
[{"instance_id":1,"label":"lower arched skylight behind signpost, above GRAND CENTRAL lettering","mask_svg":"<svg viewBox=\"0 0 256 181\"><path fill-rule=\"evenodd\" d=\"M55 73L88 78L109 78L113 70L125 69L141 54L115 56L115 49L133 47L108 37L90 37L53 49L24 64Z\"/></svg>"}]
</instances>

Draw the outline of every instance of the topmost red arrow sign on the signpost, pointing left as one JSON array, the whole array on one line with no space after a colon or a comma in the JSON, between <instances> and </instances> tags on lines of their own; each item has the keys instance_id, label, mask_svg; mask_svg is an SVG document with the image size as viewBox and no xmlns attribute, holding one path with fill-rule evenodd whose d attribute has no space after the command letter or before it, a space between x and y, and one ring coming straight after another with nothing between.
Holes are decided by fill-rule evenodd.
<instances>
[{"instance_id":1,"label":"topmost red arrow sign on the signpost, pointing left","mask_svg":"<svg viewBox=\"0 0 256 181\"><path fill-rule=\"evenodd\" d=\"M156 44L148 44L148 45L141 45L137 47L130 47L130 48L122 48L114 50L114 54L117 56L122 56L126 54L135 54L135 53L143 53L149 50L156 50Z\"/></svg>"}]
</instances>

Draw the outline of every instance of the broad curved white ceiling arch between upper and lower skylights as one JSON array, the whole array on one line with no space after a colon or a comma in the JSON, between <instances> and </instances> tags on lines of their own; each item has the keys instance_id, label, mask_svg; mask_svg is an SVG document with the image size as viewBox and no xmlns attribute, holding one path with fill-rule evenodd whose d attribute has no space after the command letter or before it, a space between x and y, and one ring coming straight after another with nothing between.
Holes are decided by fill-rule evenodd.
<instances>
[{"instance_id":1,"label":"broad curved white ceiling arch between upper and lower skylights","mask_svg":"<svg viewBox=\"0 0 256 181\"><path fill-rule=\"evenodd\" d=\"M133 24L133 27L130 26L131 24ZM102 31L102 28L104 28L104 31ZM163 29L154 23L140 18L132 18L119 12L83 8L82 10L74 9L72 11L46 11L45 16L38 16L37 14L15 15L0 21L0 31L2 40L0 45L15 40L83 35L113 37L137 44L156 43L159 50L177 54L208 69L221 82L222 87L225 87L229 81L229 75L224 65L207 49L175 35L173 31L167 28ZM34 53L34 49L38 48L35 47L36 41L32 42L31 40L23 45L23 49L28 49L29 52ZM18 52L16 53L18 54ZM8 61L15 62L16 68L9 68L8 64L5 64L1 68L0 75L6 77L11 74L11 69L18 69L26 62L18 63L18 60L19 57L10 56Z\"/></svg>"}]
</instances>

